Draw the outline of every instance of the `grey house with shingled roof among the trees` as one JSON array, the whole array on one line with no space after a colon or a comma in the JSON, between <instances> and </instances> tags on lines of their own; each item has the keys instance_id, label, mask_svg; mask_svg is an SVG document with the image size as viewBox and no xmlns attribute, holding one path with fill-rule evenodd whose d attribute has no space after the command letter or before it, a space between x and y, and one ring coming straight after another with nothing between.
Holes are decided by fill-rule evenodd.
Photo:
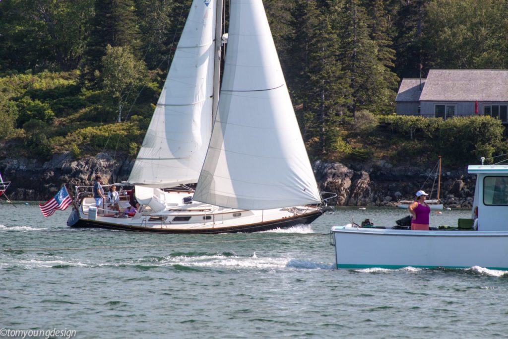
<instances>
[{"instance_id":1,"label":"grey house with shingled roof among the trees","mask_svg":"<svg viewBox=\"0 0 508 339\"><path fill-rule=\"evenodd\" d=\"M508 122L508 70L430 70L404 78L397 114L426 117L491 115Z\"/></svg>"}]
</instances>

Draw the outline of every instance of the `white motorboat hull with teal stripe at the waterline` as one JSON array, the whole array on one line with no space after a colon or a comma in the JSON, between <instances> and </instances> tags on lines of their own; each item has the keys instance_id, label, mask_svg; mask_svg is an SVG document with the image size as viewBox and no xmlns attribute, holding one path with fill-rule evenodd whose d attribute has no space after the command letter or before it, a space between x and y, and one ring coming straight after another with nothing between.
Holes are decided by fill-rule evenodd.
<instances>
[{"instance_id":1,"label":"white motorboat hull with teal stripe at the waterline","mask_svg":"<svg viewBox=\"0 0 508 339\"><path fill-rule=\"evenodd\" d=\"M508 231L333 227L337 268L481 266L508 270Z\"/></svg>"}]
</instances>

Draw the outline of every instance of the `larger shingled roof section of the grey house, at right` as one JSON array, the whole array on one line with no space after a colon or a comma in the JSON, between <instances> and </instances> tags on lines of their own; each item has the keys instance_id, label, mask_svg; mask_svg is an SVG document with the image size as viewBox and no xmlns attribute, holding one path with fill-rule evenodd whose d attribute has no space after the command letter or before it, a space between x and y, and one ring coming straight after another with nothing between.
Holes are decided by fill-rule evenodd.
<instances>
[{"instance_id":1,"label":"larger shingled roof section of the grey house, at right","mask_svg":"<svg viewBox=\"0 0 508 339\"><path fill-rule=\"evenodd\" d=\"M508 70L430 70L420 96L420 101L477 100L508 101Z\"/></svg>"}]
</instances>

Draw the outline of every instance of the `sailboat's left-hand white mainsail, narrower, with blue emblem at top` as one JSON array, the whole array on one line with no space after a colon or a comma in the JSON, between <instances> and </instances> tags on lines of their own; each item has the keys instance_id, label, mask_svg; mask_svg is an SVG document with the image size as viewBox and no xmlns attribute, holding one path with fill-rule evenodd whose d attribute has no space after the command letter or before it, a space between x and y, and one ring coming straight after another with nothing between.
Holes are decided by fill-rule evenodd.
<instances>
[{"instance_id":1,"label":"sailboat's left-hand white mainsail, narrower, with blue emblem at top","mask_svg":"<svg viewBox=\"0 0 508 339\"><path fill-rule=\"evenodd\" d=\"M129 182L197 182L211 134L215 1L194 0Z\"/></svg>"}]
</instances>

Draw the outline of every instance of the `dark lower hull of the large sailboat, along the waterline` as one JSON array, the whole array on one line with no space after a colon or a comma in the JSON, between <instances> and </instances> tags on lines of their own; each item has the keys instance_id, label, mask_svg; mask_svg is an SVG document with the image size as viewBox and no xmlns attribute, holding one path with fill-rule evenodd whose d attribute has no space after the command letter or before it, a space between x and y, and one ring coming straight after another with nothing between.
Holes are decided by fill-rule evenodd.
<instances>
[{"instance_id":1,"label":"dark lower hull of the large sailboat, along the waterline","mask_svg":"<svg viewBox=\"0 0 508 339\"><path fill-rule=\"evenodd\" d=\"M134 231L134 232L151 232L151 233L172 233L172 234L218 234L218 233L251 233L260 231L269 231L274 229L286 229L296 225L307 225L320 217L325 212L324 209L313 210L309 213L295 215L277 220L260 222L255 224L244 224L235 226L210 226L203 228L176 228L171 225L158 226L139 226L139 225L122 225L119 223L89 220L80 218L76 210L73 210L68 220L68 226L73 228L102 228L118 231ZM112 219L116 220L116 219Z\"/></svg>"}]
</instances>

